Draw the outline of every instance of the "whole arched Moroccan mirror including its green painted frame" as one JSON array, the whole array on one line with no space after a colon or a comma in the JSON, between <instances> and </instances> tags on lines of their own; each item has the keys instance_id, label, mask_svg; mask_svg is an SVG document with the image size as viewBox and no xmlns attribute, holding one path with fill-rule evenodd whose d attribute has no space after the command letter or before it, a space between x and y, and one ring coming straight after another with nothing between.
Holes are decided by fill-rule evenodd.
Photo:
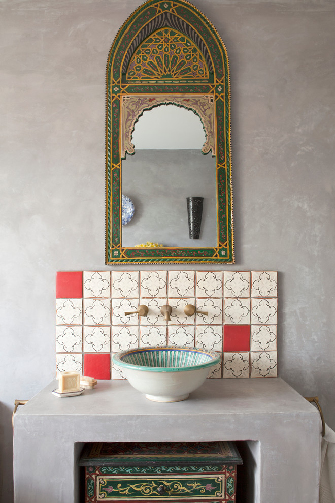
<instances>
[{"instance_id":1,"label":"whole arched Moroccan mirror including its green painted frame","mask_svg":"<svg viewBox=\"0 0 335 503\"><path fill-rule=\"evenodd\" d=\"M233 262L228 58L188 2L149 0L120 28L106 134L106 263Z\"/></svg>"}]
</instances>

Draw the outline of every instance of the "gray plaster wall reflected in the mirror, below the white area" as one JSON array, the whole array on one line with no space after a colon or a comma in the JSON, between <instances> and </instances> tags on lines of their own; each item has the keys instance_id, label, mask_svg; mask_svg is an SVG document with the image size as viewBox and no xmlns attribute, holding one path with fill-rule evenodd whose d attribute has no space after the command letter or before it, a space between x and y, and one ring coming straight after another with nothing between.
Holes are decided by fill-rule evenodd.
<instances>
[{"instance_id":1,"label":"gray plaster wall reflected in the mirror, below the white area","mask_svg":"<svg viewBox=\"0 0 335 503\"><path fill-rule=\"evenodd\" d=\"M195 149L138 149L122 161L122 194L135 207L122 227L122 245L215 247L216 161ZM198 239L189 238L187 197L203 197Z\"/></svg>"}]
</instances>

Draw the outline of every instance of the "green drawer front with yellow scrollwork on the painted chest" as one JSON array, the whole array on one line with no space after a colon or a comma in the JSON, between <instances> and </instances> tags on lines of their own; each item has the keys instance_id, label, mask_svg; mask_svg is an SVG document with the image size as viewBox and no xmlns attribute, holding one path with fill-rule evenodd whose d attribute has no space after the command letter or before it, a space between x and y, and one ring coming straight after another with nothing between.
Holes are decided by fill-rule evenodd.
<instances>
[{"instance_id":1,"label":"green drawer front with yellow scrollwork on the painted chest","mask_svg":"<svg viewBox=\"0 0 335 503\"><path fill-rule=\"evenodd\" d=\"M98 501L224 498L224 475L97 477Z\"/></svg>"}]
</instances>

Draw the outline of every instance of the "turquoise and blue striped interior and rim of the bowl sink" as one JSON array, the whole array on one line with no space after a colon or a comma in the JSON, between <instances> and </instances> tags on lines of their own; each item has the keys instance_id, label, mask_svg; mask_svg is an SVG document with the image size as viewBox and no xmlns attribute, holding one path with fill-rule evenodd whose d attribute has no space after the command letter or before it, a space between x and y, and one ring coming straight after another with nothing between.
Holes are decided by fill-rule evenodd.
<instances>
[{"instance_id":1,"label":"turquoise and blue striped interior and rim of the bowl sink","mask_svg":"<svg viewBox=\"0 0 335 503\"><path fill-rule=\"evenodd\" d=\"M113 355L120 367L151 371L195 370L215 365L219 360L217 353L177 347L136 348Z\"/></svg>"}]
</instances>

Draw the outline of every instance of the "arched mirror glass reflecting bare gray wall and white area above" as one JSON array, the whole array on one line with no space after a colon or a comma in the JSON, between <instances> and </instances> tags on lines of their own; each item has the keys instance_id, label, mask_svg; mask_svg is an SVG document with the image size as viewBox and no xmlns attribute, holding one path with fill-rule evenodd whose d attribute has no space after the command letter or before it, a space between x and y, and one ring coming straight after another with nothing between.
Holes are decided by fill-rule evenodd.
<instances>
[{"instance_id":1,"label":"arched mirror glass reflecting bare gray wall and white area above","mask_svg":"<svg viewBox=\"0 0 335 503\"><path fill-rule=\"evenodd\" d=\"M135 155L122 161L122 194L135 205L122 226L122 246L147 241L164 247L214 247L216 160L201 151L206 137L200 118L175 105L144 112L135 125ZM204 197L199 239L190 240L186 198Z\"/></svg>"}]
</instances>

